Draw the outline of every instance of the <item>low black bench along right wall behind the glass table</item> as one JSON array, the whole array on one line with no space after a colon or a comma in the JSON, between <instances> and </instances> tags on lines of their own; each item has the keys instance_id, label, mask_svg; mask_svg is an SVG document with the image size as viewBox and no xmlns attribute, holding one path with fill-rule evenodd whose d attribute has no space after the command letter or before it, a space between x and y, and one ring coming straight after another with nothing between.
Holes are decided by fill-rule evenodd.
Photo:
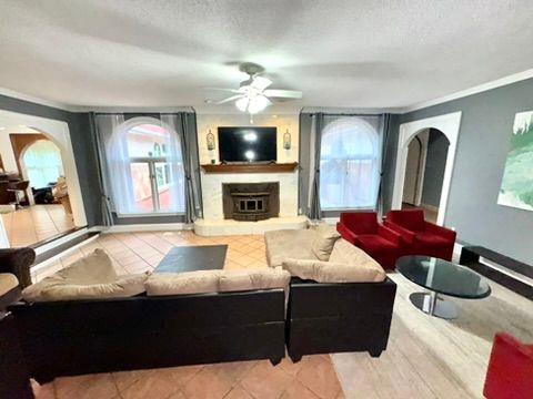
<instances>
[{"instance_id":1,"label":"low black bench along right wall behind the glass table","mask_svg":"<svg viewBox=\"0 0 533 399\"><path fill-rule=\"evenodd\" d=\"M533 300L533 266L481 246L464 246L459 263Z\"/></svg>"}]
</instances>

